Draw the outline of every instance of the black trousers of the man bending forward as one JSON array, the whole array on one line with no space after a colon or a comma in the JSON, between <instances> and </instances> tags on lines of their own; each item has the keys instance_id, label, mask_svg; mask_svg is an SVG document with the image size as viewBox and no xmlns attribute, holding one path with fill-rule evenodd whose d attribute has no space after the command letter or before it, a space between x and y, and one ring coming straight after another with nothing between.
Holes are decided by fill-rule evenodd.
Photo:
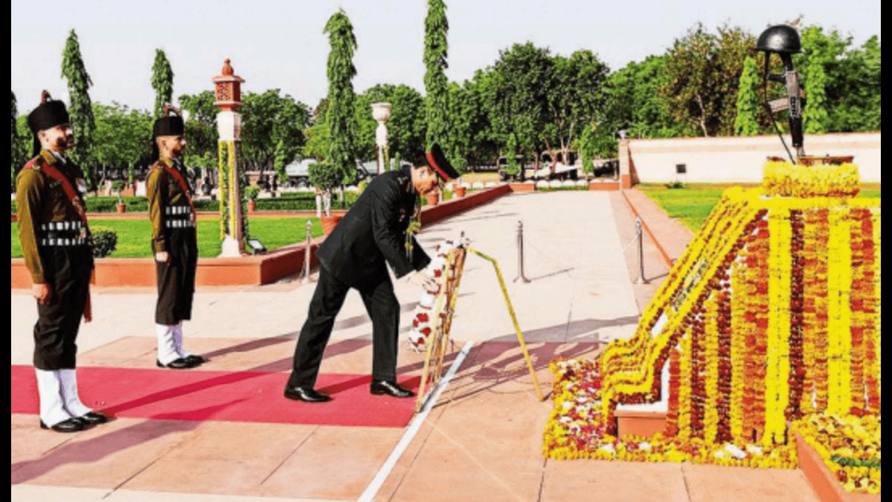
<instances>
[{"instance_id":1,"label":"black trousers of the man bending forward","mask_svg":"<svg viewBox=\"0 0 892 502\"><path fill-rule=\"evenodd\" d=\"M289 386L312 387L316 385L319 364L326 344L335 326L335 316L343 306L343 300L351 287L337 279L324 266L319 267L319 281L307 322L303 323L301 336L294 347L294 365ZM400 302L393 294L390 276L368 287L359 288L359 296L366 305L372 320L372 378L396 380L396 356L400 327Z\"/></svg>"}]
</instances>

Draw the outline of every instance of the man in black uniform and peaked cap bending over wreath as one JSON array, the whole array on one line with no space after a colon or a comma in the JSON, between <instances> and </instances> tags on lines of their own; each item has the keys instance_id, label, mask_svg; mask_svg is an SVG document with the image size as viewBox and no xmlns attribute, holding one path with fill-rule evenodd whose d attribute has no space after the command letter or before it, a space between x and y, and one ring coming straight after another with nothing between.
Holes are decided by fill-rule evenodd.
<instances>
[{"instance_id":1,"label":"man in black uniform and peaked cap bending over wreath","mask_svg":"<svg viewBox=\"0 0 892 502\"><path fill-rule=\"evenodd\" d=\"M319 280L294 348L293 371L285 397L309 403L331 399L313 386L335 316L351 288L359 290L372 320L371 393L414 396L396 382L400 303L393 294L386 264L390 264L397 278L406 278L426 290L436 287L433 278L419 272L430 263L430 258L414 237L407 239L406 230L415 214L418 196L434 191L441 180L458 178L458 172L438 145L431 148L425 161L376 176L319 246ZM411 253L406 252L407 246Z\"/></svg>"}]
</instances>

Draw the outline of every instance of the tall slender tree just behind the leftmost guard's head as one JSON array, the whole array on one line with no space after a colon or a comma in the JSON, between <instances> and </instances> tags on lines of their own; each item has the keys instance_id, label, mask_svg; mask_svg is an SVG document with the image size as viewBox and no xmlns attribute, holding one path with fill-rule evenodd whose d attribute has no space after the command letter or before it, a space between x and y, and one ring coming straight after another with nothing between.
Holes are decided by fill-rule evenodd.
<instances>
[{"instance_id":1,"label":"tall slender tree just behind the leftmost guard's head","mask_svg":"<svg viewBox=\"0 0 892 502\"><path fill-rule=\"evenodd\" d=\"M93 85L84 60L80 56L78 34L72 29L65 48L62 51L62 78L68 81L70 104L68 112L71 129L74 130L74 147L69 155L71 160L80 165L87 175L87 188L95 188L94 158L90 156L93 147L93 132L96 129L93 117L93 104L90 101L89 88Z\"/></svg>"}]
</instances>

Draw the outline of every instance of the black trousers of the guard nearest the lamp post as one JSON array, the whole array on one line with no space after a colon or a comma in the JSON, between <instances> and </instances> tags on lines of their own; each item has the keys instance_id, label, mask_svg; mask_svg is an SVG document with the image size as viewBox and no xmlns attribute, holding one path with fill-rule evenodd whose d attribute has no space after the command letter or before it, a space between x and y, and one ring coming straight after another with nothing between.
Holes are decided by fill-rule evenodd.
<instances>
[{"instance_id":1,"label":"black trousers of the guard nearest the lamp post","mask_svg":"<svg viewBox=\"0 0 892 502\"><path fill-rule=\"evenodd\" d=\"M192 319L192 299L195 294L195 268L198 247L195 229L168 229L165 234L167 263L155 262L158 281L158 303L155 322L173 326Z\"/></svg>"}]
</instances>

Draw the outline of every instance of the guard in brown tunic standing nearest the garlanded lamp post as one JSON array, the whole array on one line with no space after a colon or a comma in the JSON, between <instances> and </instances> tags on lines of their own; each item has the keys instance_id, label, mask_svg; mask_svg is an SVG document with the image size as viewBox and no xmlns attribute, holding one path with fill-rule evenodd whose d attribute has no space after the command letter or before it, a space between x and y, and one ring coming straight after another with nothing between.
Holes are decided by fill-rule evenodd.
<instances>
[{"instance_id":1,"label":"guard in brown tunic standing nearest the garlanded lamp post","mask_svg":"<svg viewBox=\"0 0 892 502\"><path fill-rule=\"evenodd\" d=\"M186 182L183 152L186 138L183 118L164 113L153 126L153 161L146 181L152 251L158 278L155 335L161 368L194 368L205 362L183 347L183 321L192 318L198 243L195 208Z\"/></svg>"}]
</instances>

